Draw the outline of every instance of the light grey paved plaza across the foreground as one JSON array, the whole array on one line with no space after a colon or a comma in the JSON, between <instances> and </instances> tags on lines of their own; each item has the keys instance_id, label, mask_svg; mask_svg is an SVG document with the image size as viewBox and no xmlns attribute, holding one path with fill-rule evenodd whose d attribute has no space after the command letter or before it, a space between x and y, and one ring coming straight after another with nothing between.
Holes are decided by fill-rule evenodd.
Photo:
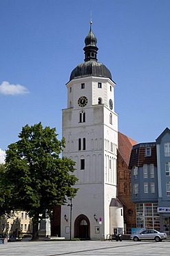
<instances>
[{"instance_id":1,"label":"light grey paved plaza across the foreground","mask_svg":"<svg viewBox=\"0 0 170 256\"><path fill-rule=\"evenodd\" d=\"M20 241L0 245L3 256L162 256L169 252L169 241Z\"/></svg>"}]
</instances>

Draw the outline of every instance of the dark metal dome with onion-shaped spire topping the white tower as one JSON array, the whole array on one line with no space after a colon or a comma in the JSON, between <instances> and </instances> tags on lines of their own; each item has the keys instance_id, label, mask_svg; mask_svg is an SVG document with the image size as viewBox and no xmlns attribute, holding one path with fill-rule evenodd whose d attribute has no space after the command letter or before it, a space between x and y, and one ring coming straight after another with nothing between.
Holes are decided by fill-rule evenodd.
<instances>
[{"instance_id":1,"label":"dark metal dome with onion-shaped spire topping the white tower","mask_svg":"<svg viewBox=\"0 0 170 256\"><path fill-rule=\"evenodd\" d=\"M97 39L92 32L92 21L90 22L90 29L87 37L85 37L85 62L79 64L74 68L70 75L70 81L74 78L85 77L89 75L109 77L111 79L111 73L109 69L101 62L97 62L97 51L96 46Z\"/></svg>"}]
</instances>

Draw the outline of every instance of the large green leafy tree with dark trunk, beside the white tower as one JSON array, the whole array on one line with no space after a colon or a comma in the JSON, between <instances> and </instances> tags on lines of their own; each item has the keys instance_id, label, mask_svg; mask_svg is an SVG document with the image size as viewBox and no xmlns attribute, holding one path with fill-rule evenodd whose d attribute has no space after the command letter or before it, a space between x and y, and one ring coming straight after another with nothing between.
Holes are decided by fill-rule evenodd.
<instances>
[{"instance_id":1,"label":"large green leafy tree with dark trunk, beside the white tower","mask_svg":"<svg viewBox=\"0 0 170 256\"><path fill-rule=\"evenodd\" d=\"M32 217L32 240L39 239L38 227L42 214L51 217L55 205L65 203L66 196L74 197L77 178L75 163L60 158L65 140L56 138L56 129L39 124L25 125L19 141L6 151L6 175L12 190L10 205L25 210Z\"/></svg>"}]
</instances>

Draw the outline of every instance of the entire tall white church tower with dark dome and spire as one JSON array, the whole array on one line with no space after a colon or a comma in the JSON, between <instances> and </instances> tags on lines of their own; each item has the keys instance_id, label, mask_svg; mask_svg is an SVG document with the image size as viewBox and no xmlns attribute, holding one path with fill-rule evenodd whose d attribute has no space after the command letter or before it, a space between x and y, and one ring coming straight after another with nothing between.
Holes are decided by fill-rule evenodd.
<instances>
[{"instance_id":1,"label":"entire tall white church tower with dark dome and spire","mask_svg":"<svg viewBox=\"0 0 170 256\"><path fill-rule=\"evenodd\" d=\"M116 200L116 84L109 69L98 62L96 44L90 22L83 48L85 60L74 68L66 84L63 156L76 162L78 192L71 208L66 205L61 208L61 236L65 238L99 239L114 232L114 228L123 228L123 206Z\"/></svg>"}]
</instances>

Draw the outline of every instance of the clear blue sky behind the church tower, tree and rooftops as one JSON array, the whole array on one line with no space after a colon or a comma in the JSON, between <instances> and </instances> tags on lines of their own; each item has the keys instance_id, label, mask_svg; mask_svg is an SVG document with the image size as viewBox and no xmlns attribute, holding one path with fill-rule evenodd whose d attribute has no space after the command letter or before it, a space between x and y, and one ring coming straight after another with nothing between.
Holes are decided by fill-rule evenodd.
<instances>
[{"instance_id":1,"label":"clear blue sky behind the church tower, tree and rooftops","mask_svg":"<svg viewBox=\"0 0 170 256\"><path fill-rule=\"evenodd\" d=\"M169 125L169 0L0 0L0 155L26 124L56 127L65 84L98 39L98 62L116 82L118 130L138 143Z\"/></svg>"}]
</instances>

